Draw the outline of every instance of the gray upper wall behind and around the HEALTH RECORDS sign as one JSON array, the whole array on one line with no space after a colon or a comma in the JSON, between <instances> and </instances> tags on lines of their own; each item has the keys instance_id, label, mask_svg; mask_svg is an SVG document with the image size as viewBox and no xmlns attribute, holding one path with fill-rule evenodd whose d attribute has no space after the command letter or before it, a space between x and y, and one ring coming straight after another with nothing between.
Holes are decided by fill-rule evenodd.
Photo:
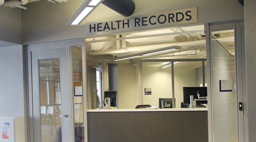
<instances>
[{"instance_id":1,"label":"gray upper wall behind and around the HEALTH RECORDS sign","mask_svg":"<svg viewBox=\"0 0 256 142\"><path fill-rule=\"evenodd\" d=\"M198 23L200 24L244 17L243 6L235 0L133 1L136 5L133 15L198 7ZM67 3L53 4L39 1L27 4L28 9L22 11L23 43L84 38L86 22L122 17L122 15L101 4L80 25L67 25L68 20L82 2L83 0L69 0Z\"/></svg>"}]
</instances>

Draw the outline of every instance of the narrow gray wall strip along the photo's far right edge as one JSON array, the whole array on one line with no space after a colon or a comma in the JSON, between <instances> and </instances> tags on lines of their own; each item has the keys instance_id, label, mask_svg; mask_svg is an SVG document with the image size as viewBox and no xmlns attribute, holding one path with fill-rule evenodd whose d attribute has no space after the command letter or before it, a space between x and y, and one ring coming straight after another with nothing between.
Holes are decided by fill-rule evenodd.
<instances>
[{"instance_id":1,"label":"narrow gray wall strip along the photo's far right edge","mask_svg":"<svg viewBox=\"0 0 256 142\"><path fill-rule=\"evenodd\" d=\"M256 140L256 15L255 0L245 0L244 13L245 13L245 56L246 56L246 84L247 84L247 102L248 102L248 126L249 126L249 141Z\"/></svg>"}]
</instances>

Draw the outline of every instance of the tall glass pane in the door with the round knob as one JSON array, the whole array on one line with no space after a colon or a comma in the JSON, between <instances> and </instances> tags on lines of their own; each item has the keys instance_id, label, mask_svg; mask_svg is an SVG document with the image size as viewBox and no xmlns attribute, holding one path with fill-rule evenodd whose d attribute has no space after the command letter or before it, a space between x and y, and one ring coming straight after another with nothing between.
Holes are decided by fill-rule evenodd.
<instances>
[{"instance_id":1,"label":"tall glass pane in the door with the round knob","mask_svg":"<svg viewBox=\"0 0 256 142\"><path fill-rule=\"evenodd\" d=\"M59 58L39 60L41 141L61 141Z\"/></svg>"}]
</instances>

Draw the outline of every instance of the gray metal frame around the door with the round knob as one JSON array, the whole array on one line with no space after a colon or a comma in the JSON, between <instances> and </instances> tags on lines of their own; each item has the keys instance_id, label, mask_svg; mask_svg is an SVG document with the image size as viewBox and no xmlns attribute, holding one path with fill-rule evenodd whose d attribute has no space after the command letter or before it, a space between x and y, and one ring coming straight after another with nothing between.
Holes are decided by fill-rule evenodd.
<instances>
[{"instance_id":1,"label":"gray metal frame around the door with the round knob","mask_svg":"<svg viewBox=\"0 0 256 142\"><path fill-rule=\"evenodd\" d=\"M80 40L81 41L81 40ZM69 94L73 94L72 93L72 82L71 82L71 79L72 79L72 68L71 68L71 61L72 61L72 56L71 56L71 45L73 44L76 45L77 44L77 41L72 41L72 42L54 42L54 43L45 43L45 44L33 44L33 45L28 45L26 47L26 52L27 52L27 67L28 67L28 108L27 108L27 116L28 116L28 119L27 119L27 126L28 126L28 141L37 141L37 139L34 139L35 138L35 133L34 133L34 125L36 122L34 122L33 120L33 116L34 116L34 112L33 112L33 94L32 94L32 56L31 56L31 53L34 52L34 51L47 51L47 50L55 50L55 49L65 49L65 52L66 52L66 74L67 74L67 86L71 86L71 87L67 87L67 93ZM84 46L83 46L83 40L82 42L79 43L81 46L82 46L82 49L84 49ZM70 75L70 77L68 77L68 75ZM73 97L72 95L68 95L69 98L70 98L70 101L73 102ZM86 98L86 97L84 97ZM63 107L63 106L62 106ZM74 141L74 118L73 118L73 103L69 103L69 105L67 106L68 108L68 111L70 113L70 119L71 121L69 121L69 124L68 124L68 134L69 134L69 138L67 139L67 141ZM85 113L86 114L86 113ZM63 121L62 121L63 122ZM86 122L86 121L84 121ZM87 132L87 127L85 127L85 133ZM37 134L38 135L38 134ZM86 136L86 135L85 135ZM38 136L36 136L38 138ZM87 136L86 136L87 137Z\"/></svg>"}]
</instances>

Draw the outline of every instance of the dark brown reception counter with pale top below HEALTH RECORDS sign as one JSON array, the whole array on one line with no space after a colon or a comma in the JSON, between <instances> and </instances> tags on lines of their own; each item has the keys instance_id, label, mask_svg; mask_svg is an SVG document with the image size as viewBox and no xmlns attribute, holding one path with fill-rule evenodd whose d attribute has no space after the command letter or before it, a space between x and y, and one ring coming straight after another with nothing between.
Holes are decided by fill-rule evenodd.
<instances>
[{"instance_id":1,"label":"dark brown reception counter with pale top below HEALTH RECORDS sign","mask_svg":"<svg viewBox=\"0 0 256 142\"><path fill-rule=\"evenodd\" d=\"M208 141L207 108L88 110L89 141Z\"/></svg>"}]
</instances>

